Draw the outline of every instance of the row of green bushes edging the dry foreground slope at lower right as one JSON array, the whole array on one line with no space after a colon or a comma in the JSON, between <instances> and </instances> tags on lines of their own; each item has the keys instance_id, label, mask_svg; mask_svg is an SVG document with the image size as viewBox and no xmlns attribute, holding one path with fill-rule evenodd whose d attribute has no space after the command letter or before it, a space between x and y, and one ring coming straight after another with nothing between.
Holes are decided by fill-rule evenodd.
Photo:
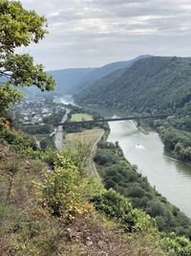
<instances>
[{"instance_id":1,"label":"row of green bushes edging the dry foreground slope at lower right","mask_svg":"<svg viewBox=\"0 0 191 256\"><path fill-rule=\"evenodd\" d=\"M133 209L128 198L124 198L116 191L110 189L91 200L96 210L104 214L108 219L120 223L127 232L142 232L142 235L150 235L162 250L171 256L190 256L191 243L185 237L177 236L175 233L160 233L155 227L155 220L143 211ZM155 213L159 213L160 202L155 202ZM146 233L144 233L146 232Z\"/></svg>"}]
</instances>

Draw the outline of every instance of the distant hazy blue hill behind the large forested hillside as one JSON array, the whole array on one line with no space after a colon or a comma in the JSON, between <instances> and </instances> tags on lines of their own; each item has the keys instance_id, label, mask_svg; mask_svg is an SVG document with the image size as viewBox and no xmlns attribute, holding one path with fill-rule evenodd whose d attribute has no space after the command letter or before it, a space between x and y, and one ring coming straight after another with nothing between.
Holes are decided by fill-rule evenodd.
<instances>
[{"instance_id":1,"label":"distant hazy blue hill behind the large forested hillside","mask_svg":"<svg viewBox=\"0 0 191 256\"><path fill-rule=\"evenodd\" d=\"M150 56L139 56L127 61L117 61L98 68L71 68L48 71L56 82L54 94L74 94L93 82L106 77L116 70L130 67L135 61Z\"/></svg>"}]
</instances>

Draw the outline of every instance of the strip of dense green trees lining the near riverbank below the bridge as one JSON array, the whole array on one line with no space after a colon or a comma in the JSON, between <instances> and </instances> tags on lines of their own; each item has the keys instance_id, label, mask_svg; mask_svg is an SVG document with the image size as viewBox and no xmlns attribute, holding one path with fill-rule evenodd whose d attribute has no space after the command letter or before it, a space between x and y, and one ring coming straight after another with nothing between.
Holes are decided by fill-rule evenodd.
<instances>
[{"instance_id":1,"label":"strip of dense green trees lining the near riverbank below the bridge","mask_svg":"<svg viewBox=\"0 0 191 256\"><path fill-rule=\"evenodd\" d=\"M111 161L112 159L112 161ZM102 140L95 156L96 168L107 189L114 189L130 198L133 207L143 209L156 219L159 230L176 232L190 238L190 220L180 210L167 202L138 174L135 166L128 163L118 145Z\"/></svg>"}]
</instances>

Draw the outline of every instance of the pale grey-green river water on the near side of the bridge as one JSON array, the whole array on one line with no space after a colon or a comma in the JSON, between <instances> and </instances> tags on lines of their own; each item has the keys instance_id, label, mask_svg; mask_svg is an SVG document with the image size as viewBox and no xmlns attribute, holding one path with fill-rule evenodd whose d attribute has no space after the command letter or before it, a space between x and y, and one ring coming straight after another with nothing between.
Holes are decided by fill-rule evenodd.
<instances>
[{"instance_id":1,"label":"pale grey-green river water on the near side of the bridge","mask_svg":"<svg viewBox=\"0 0 191 256\"><path fill-rule=\"evenodd\" d=\"M191 218L191 166L164 152L155 131L143 134L131 121L111 122L110 128L108 141L118 141L125 157L159 193Z\"/></svg>"}]
</instances>

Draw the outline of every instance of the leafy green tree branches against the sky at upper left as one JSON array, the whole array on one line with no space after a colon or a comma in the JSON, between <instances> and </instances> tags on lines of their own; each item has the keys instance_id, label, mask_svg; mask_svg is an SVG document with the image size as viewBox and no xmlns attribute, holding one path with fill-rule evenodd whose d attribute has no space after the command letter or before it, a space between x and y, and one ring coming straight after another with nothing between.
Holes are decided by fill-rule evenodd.
<instances>
[{"instance_id":1,"label":"leafy green tree branches against the sky at upper left","mask_svg":"<svg viewBox=\"0 0 191 256\"><path fill-rule=\"evenodd\" d=\"M18 1L0 0L0 111L21 98L18 85L53 90L53 77L41 64L34 64L30 55L15 54L16 48L38 43L47 34L46 22Z\"/></svg>"}]
</instances>

